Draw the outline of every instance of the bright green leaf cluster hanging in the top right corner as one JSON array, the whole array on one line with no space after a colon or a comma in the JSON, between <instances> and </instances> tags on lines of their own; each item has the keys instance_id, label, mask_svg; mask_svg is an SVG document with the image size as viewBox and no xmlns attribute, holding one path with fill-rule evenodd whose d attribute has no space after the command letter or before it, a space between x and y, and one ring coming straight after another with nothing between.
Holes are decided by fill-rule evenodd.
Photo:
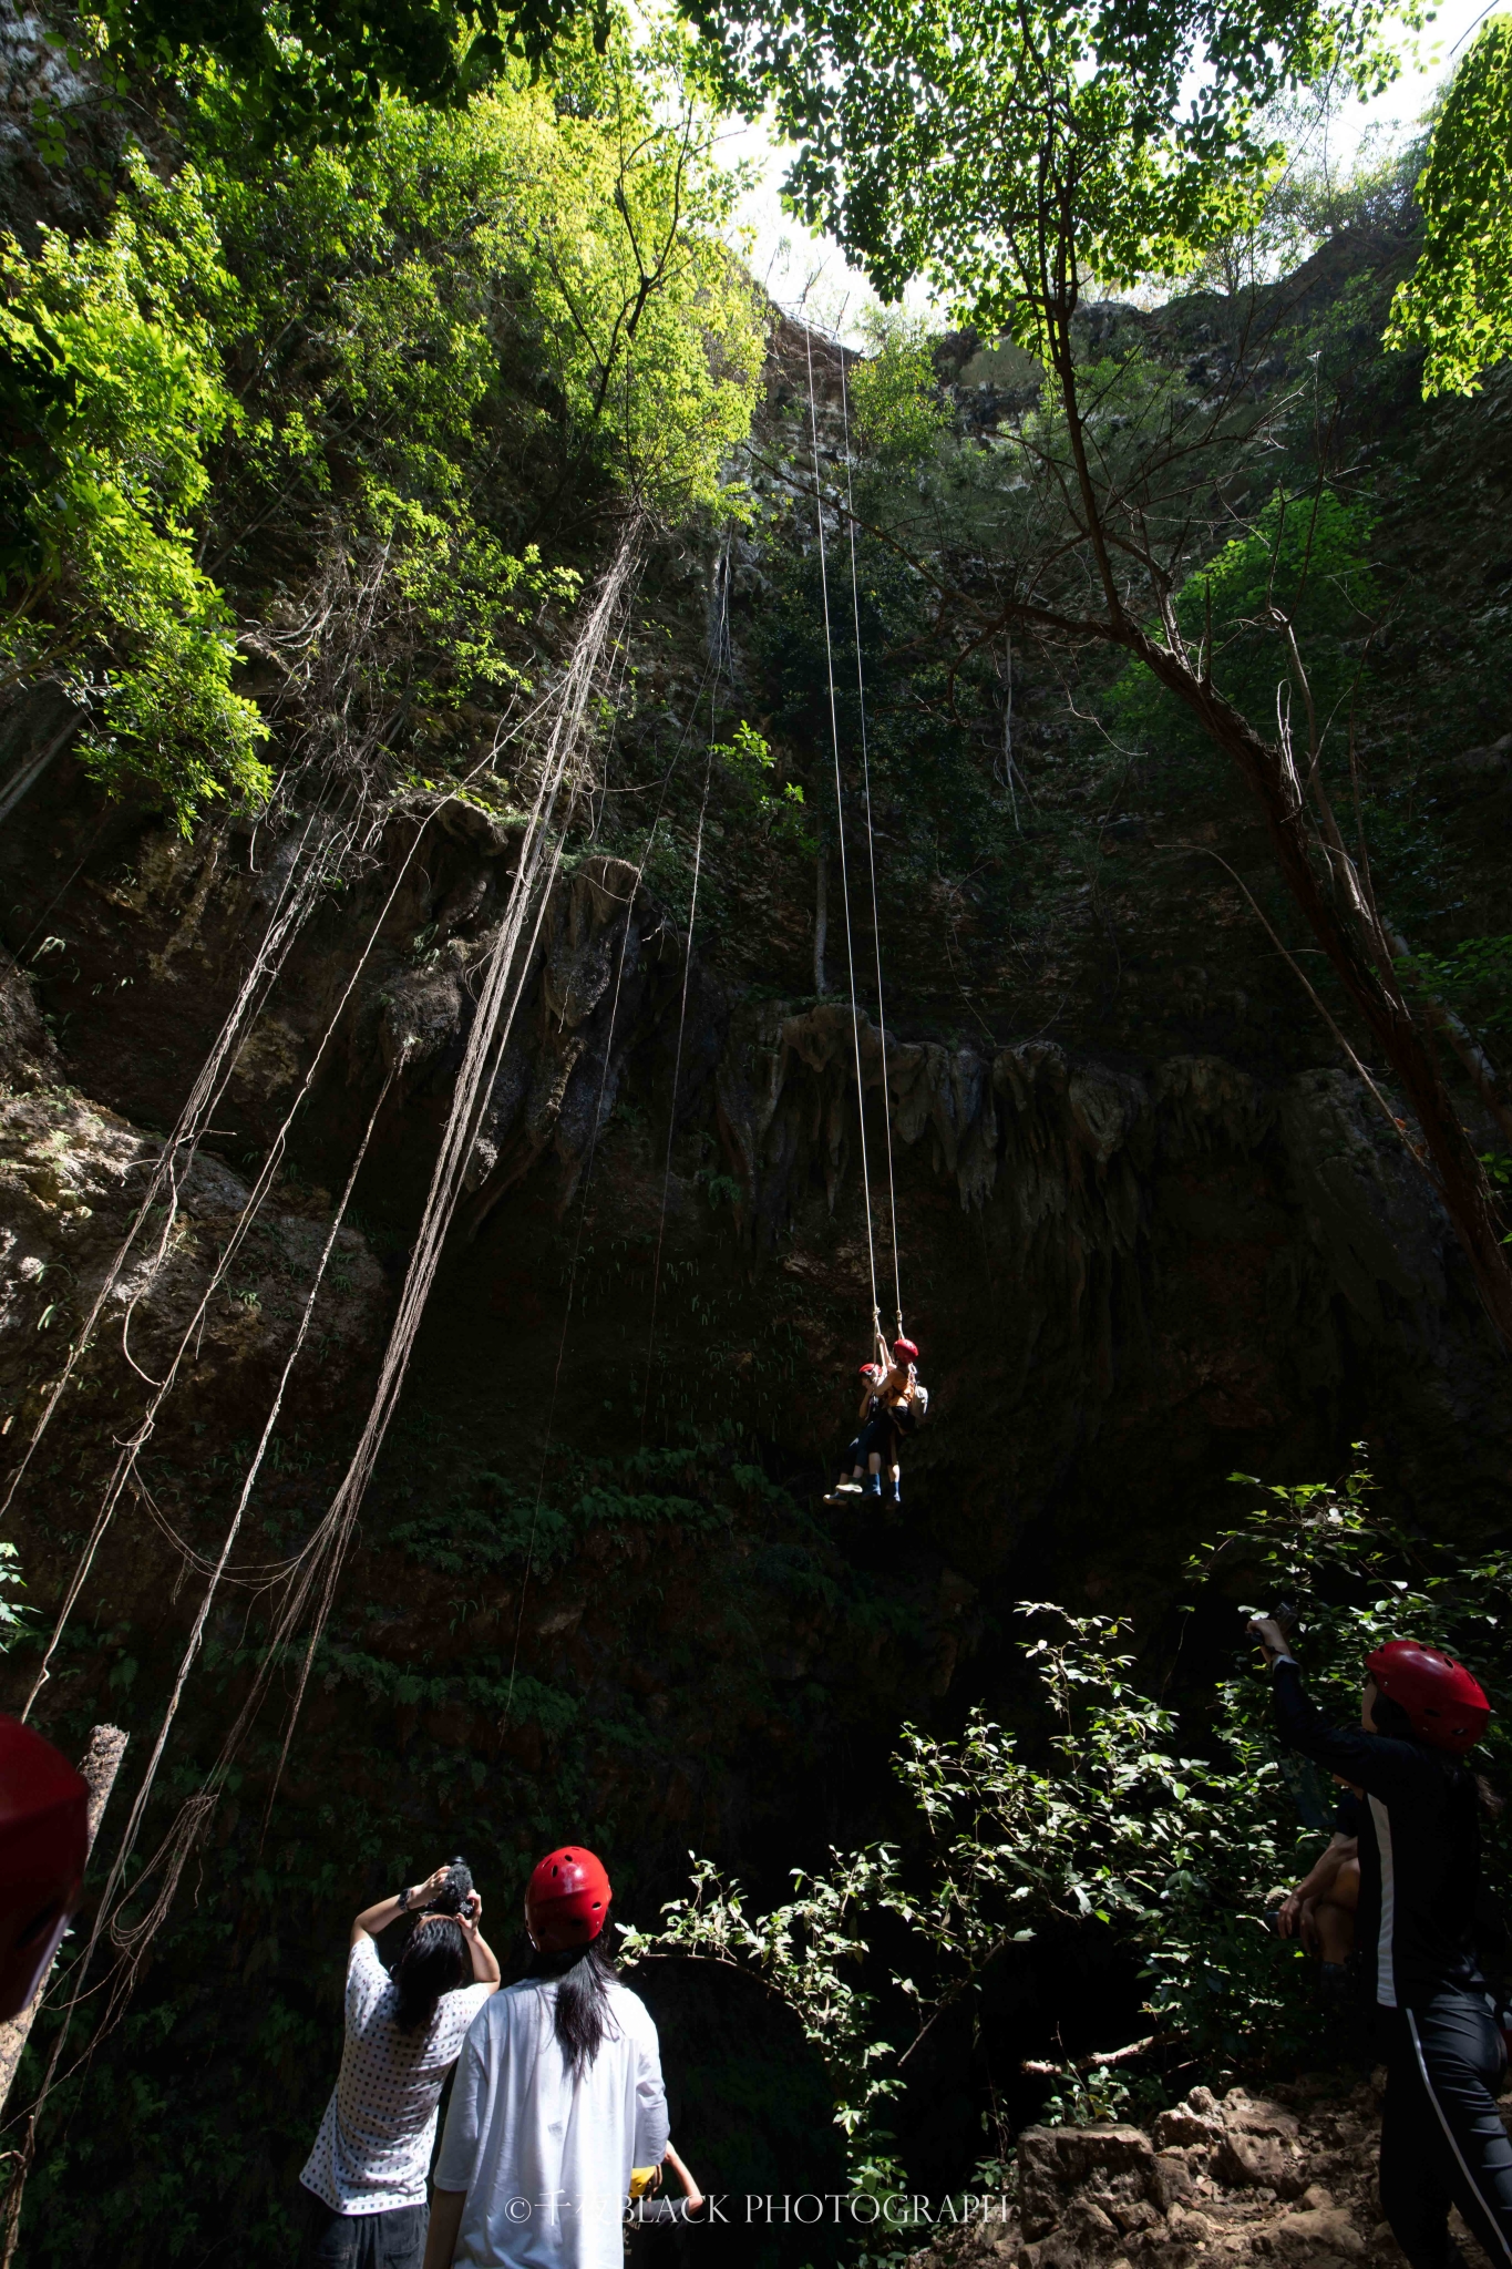
<instances>
[{"instance_id":1,"label":"bright green leaf cluster hanging in the top right corner","mask_svg":"<svg viewBox=\"0 0 1512 2269\"><path fill-rule=\"evenodd\" d=\"M1453 75L1417 184L1426 241L1387 347L1426 347L1424 397L1473 395L1512 349L1512 16L1492 16Z\"/></svg>"}]
</instances>

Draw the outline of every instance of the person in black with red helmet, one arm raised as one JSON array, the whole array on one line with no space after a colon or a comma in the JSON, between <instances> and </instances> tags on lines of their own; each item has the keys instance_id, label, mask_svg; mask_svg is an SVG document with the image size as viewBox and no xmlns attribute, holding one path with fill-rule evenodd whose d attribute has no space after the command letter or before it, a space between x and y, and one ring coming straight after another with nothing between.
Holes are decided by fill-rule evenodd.
<instances>
[{"instance_id":1,"label":"person in black with red helmet, one arm raised","mask_svg":"<svg viewBox=\"0 0 1512 2269\"><path fill-rule=\"evenodd\" d=\"M1489 1702L1439 1647L1392 1638L1365 1656L1360 1724L1331 1724L1281 1625L1260 1616L1249 1629L1272 1661L1285 1747L1365 1790L1356 1947L1387 2044L1385 2219L1410 2269L1462 2269L1458 2205L1512 2269L1512 2142L1496 2110L1507 2051L1476 1958L1480 1811L1496 1799L1464 1763Z\"/></svg>"}]
</instances>

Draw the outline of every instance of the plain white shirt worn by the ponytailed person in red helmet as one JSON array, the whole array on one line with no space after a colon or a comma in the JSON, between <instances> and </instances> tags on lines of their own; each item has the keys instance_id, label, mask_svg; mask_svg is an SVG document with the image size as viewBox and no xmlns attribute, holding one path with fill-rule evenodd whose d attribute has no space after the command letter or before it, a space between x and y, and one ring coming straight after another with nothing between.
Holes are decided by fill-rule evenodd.
<instances>
[{"instance_id":1,"label":"plain white shirt worn by the ponytailed person in red helmet","mask_svg":"<svg viewBox=\"0 0 1512 2269\"><path fill-rule=\"evenodd\" d=\"M608 2031L576 2078L555 1979L494 1994L458 2060L438 2190L465 2190L453 2260L472 2269L623 2269L632 2167L666 2151L666 2090L646 2004L617 1979Z\"/></svg>"}]
</instances>

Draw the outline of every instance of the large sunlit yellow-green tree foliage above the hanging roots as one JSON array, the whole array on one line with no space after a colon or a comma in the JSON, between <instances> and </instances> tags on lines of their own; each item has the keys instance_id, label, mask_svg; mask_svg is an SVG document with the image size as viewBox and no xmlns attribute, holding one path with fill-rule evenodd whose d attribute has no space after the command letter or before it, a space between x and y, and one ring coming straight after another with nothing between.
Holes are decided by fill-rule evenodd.
<instances>
[{"instance_id":1,"label":"large sunlit yellow-green tree foliage above the hanging roots","mask_svg":"<svg viewBox=\"0 0 1512 2269\"><path fill-rule=\"evenodd\" d=\"M222 558L286 665L331 667L329 638L290 653L295 606L372 624L363 744L404 719L431 762L447 712L517 681L521 617L564 592L551 524L739 506L762 327L680 64L585 48L553 84L512 68L462 113L385 102L356 150L215 172L249 372Z\"/></svg>"}]
</instances>

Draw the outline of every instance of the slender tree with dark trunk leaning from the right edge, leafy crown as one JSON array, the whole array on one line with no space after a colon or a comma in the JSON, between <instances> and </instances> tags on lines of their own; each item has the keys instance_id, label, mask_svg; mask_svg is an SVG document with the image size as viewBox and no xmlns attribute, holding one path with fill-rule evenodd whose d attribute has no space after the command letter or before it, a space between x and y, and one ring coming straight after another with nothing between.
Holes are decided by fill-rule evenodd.
<instances>
[{"instance_id":1,"label":"slender tree with dark trunk leaning from the right edge, leafy crown","mask_svg":"<svg viewBox=\"0 0 1512 2269\"><path fill-rule=\"evenodd\" d=\"M1385 23L1381 0L1306 0L1281 14L1265 0L1133 11L1118 0L739 0L725 52L730 75L748 93L768 91L798 143L796 202L836 231L884 300L929 275L961 313L1006 329L1050 372L1038 424L1004 436L1018 463L1000 467L1009 501L997 545L889 531L938 594L938 629L957 656L1016 629L1059 640L1061 656L1097 640L1186 703L1263 812L1285 887L1417 1119L1460 1246L1512 1346L1501 1216L1430 1021L1390 967L1369 869L1317 781L1297 769L1290 737L1213 688L1201 647L1170 613L1220 535L1220 463L1238 472L1233 442L1245 438L1258 458L1267 420L1251 397L1245 436L1233 372L1204 402L1167 368L1138 415L1115 408L1118 368L1131 356L1097 352L1104 340L1088 340L1084 318L1090 288L1192 272L1256 213L1281 159L1269 107L1328 75L1383 84L1394 70ZM1245 470L1249 486L1258 465Z\"/></svg>"}]
</instances>

